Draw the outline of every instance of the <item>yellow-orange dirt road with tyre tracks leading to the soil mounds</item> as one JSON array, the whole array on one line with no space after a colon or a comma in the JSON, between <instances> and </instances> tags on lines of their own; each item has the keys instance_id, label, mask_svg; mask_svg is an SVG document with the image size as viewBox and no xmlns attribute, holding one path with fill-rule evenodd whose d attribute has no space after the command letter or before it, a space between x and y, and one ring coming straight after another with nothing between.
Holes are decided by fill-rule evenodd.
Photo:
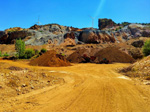
<instances>
[{"instance_id":1,"label":"yellow-orange dirt road with tyre tracks leading to the soil mounds","mask_svg":"<svg viewBox=\"0 0 150 112\"><path fill-rule=\"evenodd\" d=\"M8 63L17 66L17 62ZM124 66L127 65L35 67L65 74L66 83L20 96L11 109L20 112L150 112L150 92L115 72Z\"/></svg>"}]
</instances>

